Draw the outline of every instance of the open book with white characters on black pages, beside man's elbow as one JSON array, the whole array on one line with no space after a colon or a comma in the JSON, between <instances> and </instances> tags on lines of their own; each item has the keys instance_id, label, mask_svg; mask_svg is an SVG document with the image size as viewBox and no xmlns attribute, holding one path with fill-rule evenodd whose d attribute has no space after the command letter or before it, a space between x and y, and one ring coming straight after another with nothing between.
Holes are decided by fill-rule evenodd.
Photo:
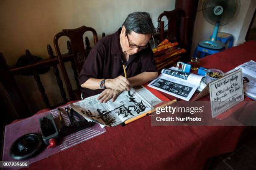
<instances>
[{"instance_id":1,"label":"open book with white characters on black pages, beside man's elbow","mask_svg":"<svg viewBox=\"0 0 256 170\"><path fill-rule=\"evenodd\" d=\"M201 75L184 73L176 70L176 67L171 67L163 69L157 79L149 83L148 86L189 101L199 87L202 77Z\"/></svg>"}]
</instances>

